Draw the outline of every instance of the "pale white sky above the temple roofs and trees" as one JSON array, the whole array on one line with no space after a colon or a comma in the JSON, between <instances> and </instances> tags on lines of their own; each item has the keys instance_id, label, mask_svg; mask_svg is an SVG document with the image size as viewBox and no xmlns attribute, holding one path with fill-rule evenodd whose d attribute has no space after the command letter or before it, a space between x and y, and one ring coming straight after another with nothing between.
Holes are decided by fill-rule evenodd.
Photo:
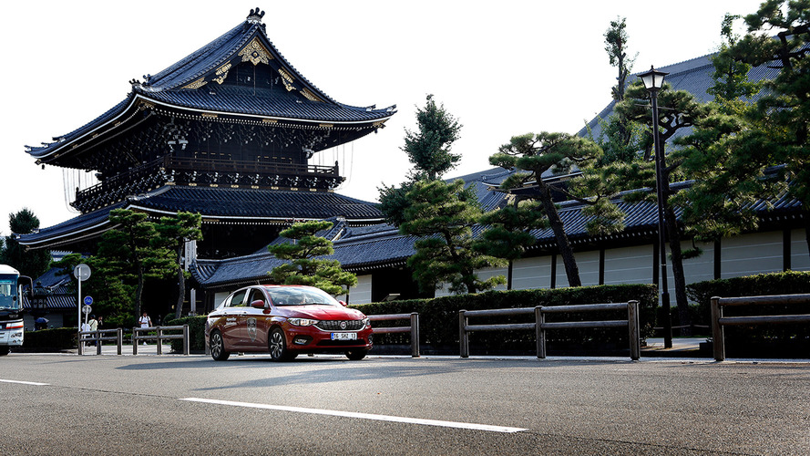
<instances>
[{"instance_id":1,"label":"pale white sky above the temple roofs and trees","mask_svg":"<svg viewBox=\"0 0 810 456\"><path fill-rule=\"evenodd\" d=\"M43 170L25 145L64 135L126 98L132 78L156 74L239 25L259 6L267 35L304 78L348 105L396 105L386 128L339 150L336 192L377 200L413 165L401 149L426 96L463 125L446 178L492 168L512 136L576 133L610 103L617 70L604 50L626 17L632 72L713 53L726 13L760 0L471 2L298 0L8 2L0 16L5 70L0 109L0 234L7 215L33 211L42 227L77 216L61 168Z\"/></svg>"}]
</instances>

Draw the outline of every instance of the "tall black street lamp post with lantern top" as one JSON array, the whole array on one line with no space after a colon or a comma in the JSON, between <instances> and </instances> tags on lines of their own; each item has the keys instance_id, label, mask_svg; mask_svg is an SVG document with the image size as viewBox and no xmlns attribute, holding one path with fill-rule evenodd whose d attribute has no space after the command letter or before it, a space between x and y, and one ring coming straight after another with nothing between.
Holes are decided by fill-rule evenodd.
<instances>
[{"instance_id":1,"label":"tall black street lamp post with lantern top","mask_svg":"<svg viewBox=\"0 0 810 456\"><path fill-rule=\"evenodd\" d=\"M652 100L652 141L655 150L655 190L658 196L658 246L660 249L659 259L661 261L661 277L659 284L661 287L661 307L664 311L663 331L664 347L672 348L672 317L670 316L670 289L667 286L667 247L664 236L664 212L663 212L663 169L665 165L664 151L661 140L658 137L658 91L663 86L663 79L669 73L658 71L650 67L650 71L641 73L639 78L644 82L644 87L650 92Z\"/></svg>"}]
</instances>

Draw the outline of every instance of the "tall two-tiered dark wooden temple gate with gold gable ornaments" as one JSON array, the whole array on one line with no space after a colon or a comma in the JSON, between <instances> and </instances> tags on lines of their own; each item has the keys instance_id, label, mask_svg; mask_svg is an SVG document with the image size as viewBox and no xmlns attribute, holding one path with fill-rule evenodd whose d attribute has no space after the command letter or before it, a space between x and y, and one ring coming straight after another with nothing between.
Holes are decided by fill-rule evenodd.
<instances>
[{"instance_id":1,"label":"tall two-tiered dark wooden temple gate with gold gable ornaments","mask_svg":"<svg viewBox=\"0 0 810 456\"><path fill-rule=\"evenodd\" d=\"M338 168L314 154L384 128L395 106L354 107L304 78L276 49L263 11L144 80L97 119L41 147L37 164L94 172L77 189L80 215L19 236L29 248L93 253L124 208L159 218L203 217L197 254L252 254L292 220L340 217L350 226L380 223L374 204L337 194Z\"/></svg>"}]
</instances>

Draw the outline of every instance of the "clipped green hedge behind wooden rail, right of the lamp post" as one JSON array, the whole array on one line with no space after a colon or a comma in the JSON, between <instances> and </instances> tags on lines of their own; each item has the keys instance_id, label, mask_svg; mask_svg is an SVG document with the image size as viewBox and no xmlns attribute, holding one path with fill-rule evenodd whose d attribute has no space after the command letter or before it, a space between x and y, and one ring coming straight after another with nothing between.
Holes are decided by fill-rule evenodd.
<instances>
[{"instance_id":1,"label":"clipped green hedge behind wooden rail, right of the lamp post","mask_svg":"<svg viewBox=\"0 0 810 456\"><path fill-rule=\"evenodd\" d=\"M810 294L810 272L749 275L729 279L710 280L687 285L687 293L698 304L701 319L711 324L711 298ZM781 306L728 306L723 316L795 315L810 314L808 305ZM804 355L810 350L810 325L755 325L726 326L726 351L729 356L778 356L787 348L785 356ZM744 350L744 351L743 351Z\"/></svg>"}]
</instances>

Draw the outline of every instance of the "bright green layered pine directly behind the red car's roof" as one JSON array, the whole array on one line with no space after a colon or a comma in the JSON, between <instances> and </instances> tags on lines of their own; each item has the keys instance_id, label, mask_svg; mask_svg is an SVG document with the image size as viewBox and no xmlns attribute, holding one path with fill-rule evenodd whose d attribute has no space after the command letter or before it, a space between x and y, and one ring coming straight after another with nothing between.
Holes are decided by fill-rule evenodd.
<instances>
[{"instance_id":1,"label":"bright green layered pine directly behind the red car's roof","mask_svg":"<svg viewBox=\"0 0 810 456\"><path fill-rule=\"evenodd\" d=\"M343 271L337 260L321 257L334 253L332 241L317 235L329 230L333 223L311 221L293 223L282 231L282 237L292 239L292 243L273 244L268 247L271 254L290 263L276 266L269 273L272 281L284 285L311 285L321 288L330 295L343 295L350 286L357 284L357 276Z\"/></svg>"}]
</instances>

